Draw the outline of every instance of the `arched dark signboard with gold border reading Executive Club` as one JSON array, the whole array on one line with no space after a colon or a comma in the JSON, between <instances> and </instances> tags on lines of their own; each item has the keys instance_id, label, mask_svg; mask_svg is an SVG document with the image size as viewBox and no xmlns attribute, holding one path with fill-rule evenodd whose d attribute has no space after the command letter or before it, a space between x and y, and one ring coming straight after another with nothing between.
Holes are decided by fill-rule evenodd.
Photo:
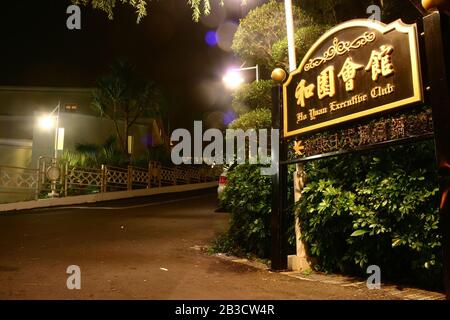
<instances>
[{"instance_id":1,"label":"arched dark signboard with gold border reading Executive Club","mask_svg":"<svg viewBox=\"0 0 450 320\"><path fill-rule=\"evenodd\" d=\"M320 38L283 85L290 137L423 100L416 25L354 20Z\"/></svg>"}]
</instances>

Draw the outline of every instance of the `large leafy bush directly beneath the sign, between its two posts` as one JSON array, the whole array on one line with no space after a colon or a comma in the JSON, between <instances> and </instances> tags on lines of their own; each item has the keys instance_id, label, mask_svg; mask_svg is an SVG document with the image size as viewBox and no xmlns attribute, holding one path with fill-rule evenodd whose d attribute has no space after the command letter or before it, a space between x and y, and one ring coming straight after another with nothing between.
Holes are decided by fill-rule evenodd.
<instances>
[{"instance_id":1,"label":"large leafy bush directly beneath the sign, between its two posts","mask_svg":"<svg viewBox=\"0 0 450 320\"><path fill-rule=\"evenodd\" d=\"M438 186L431 142L310 162L298 204L302 238L322 271L441 281Z\"/></svg>"}]
</instances>

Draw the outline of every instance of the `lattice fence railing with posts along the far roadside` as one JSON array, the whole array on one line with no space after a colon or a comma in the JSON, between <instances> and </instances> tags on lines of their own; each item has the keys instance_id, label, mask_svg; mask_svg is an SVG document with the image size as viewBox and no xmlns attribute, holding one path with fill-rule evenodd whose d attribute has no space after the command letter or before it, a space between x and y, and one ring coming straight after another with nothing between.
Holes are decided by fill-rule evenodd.
<instances>
[{"instance_id":1,"label":"lattice fence railing with posts along the far roadside","mask_svg":"<svg viewBox=\"0 0 450 320\"><path fill-rule=\"evenodd\" d=\"M41 158L37 169L0 166L0 202L47 198L51 192L71 196L202 183L216 181L220 173L218 166L168 167L157 162L147 168L103 165L89 169ZM6 196L11 193L17 196Z\"/></svg>"}]
</instances>

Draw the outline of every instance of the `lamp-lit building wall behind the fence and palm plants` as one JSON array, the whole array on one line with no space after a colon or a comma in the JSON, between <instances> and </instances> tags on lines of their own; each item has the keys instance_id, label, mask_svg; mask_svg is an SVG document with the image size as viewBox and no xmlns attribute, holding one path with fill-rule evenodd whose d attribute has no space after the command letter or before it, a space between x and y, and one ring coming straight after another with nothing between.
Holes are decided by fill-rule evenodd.
<instances>
[{"instance_id":1,"label":"lamp-lit building wall behind the fence and palm plants","mask_svg":"<svg viewBox=\"0 0 450 320\"><path fill-rule=\"evenodd\" d=\"M55 131L43 130L38 119L58 104L61 106L59 127L65 129L65 150L73 149L78 143L103 144L110 135L115 135L113 121L97 117L92 110L91 92L91 88L0 86L0 147L1 141L10 142L4 147L5 152L0 153L0 166L34 168L40 156L53 156ZM157 121L139 119L138 122L130 131L134 155L164 141L159 136L162 131ZM24 149L23 143L28 147Z\"/></svg>"}]
</instances>

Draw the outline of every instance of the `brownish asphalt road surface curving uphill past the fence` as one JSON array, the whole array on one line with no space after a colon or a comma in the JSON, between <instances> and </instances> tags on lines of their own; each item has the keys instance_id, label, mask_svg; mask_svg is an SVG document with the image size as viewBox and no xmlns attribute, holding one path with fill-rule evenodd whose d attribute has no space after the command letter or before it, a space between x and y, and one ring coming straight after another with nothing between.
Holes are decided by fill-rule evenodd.
<instances>
[{"instance_id":1,"label":"brownish asphalt road surface curving uphill past the fence","mask_svg":"<svg viewBox=\"0 0 450 320\"><path fill-rule=\"evenodd\" d=\"M186 198L187 196L187 198ZM0 214L0 299L379 299L209 256L215 193ZM81 269L68 290L66 269Z\"/></svg>"}]
</instances>

